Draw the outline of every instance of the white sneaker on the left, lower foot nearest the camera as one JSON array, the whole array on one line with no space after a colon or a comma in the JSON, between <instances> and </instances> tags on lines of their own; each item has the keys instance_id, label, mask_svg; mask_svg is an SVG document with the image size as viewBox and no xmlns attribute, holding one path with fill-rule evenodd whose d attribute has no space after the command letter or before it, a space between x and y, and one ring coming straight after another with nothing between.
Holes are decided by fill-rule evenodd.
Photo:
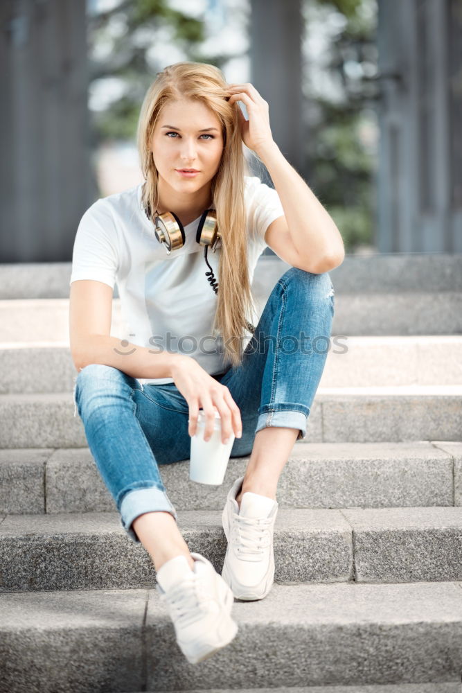
<instances>
[{"instance_id":1,"label":"white sneaker on the left, lower foot nearest the camera","mask_svg":"<svg viewBox=\"0 0 462 693\"><path fill-rule=\"evenodd\" d=\"M157 572L157 591L175 627L177 643L190 664L225 647L238 632L231 618L234 598L229 586L201 554L176 556Z\"/></svg>"}]
</instances>

